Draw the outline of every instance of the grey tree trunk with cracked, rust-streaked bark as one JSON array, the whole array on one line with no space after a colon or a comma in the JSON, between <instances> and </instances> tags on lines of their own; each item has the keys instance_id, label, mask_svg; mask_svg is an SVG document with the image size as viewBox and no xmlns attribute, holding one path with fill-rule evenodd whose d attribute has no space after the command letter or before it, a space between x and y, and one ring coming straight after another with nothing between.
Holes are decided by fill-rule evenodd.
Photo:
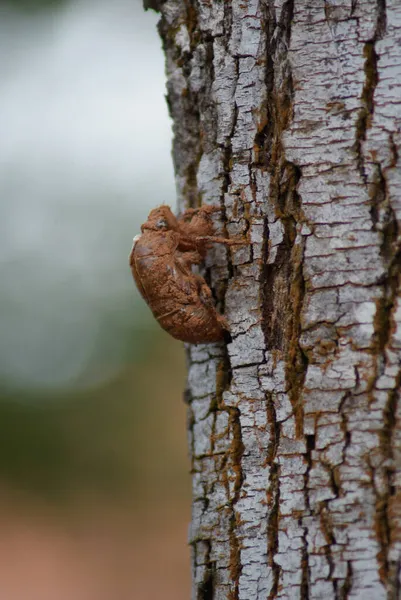
<instances>
[{"instance_id":1,"label":"grey tree trunk with cracked, rust-streaked bark","mask_svg":"<svg viewBox=\"0 0 401 600\"><path fill-rule=\"evenodd\" d=\"M401 3L151 4L180 207L243 241L188 347L192 598L401 598Z\"/></svg>"}]
</instances>

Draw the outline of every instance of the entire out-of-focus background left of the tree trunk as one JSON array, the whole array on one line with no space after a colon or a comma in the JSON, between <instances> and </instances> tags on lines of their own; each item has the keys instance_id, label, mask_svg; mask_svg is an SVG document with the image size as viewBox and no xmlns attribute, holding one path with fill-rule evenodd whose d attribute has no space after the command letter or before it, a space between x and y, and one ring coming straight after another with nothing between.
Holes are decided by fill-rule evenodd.
<instances>
[{"instance_id":1,"label":"entire out-of-focus background left of the tree trunk","mask_svg":"<svg viewBox=\"0 0 401 600\"><path fill-rule=\"evenodd\" d=\"M0 598L188 598L182 345L128 268L174 206L158 17L0 4Z\"/></svg>"}]
</instances>

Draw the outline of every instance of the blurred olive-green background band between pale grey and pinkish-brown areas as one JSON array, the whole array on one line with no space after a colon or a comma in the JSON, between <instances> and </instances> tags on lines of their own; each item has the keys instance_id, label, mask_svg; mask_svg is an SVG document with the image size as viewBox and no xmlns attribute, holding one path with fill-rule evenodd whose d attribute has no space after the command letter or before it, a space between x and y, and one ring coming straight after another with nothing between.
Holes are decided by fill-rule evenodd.
<instances>
[{"instance_id":1,"label":"blurred olive-green background band between pale grey and pinkish-brown areas","mask_svg":"<svg viewBox=\"0 0 401 600\"><path fill-rule=\"evenodd\" d=\"M140 339L141 359L101 387L0 391L3 485L60 503L77 493L132 502L165 485L187 488L182 348L162 332Z\"/></svg>"}]
</instances>

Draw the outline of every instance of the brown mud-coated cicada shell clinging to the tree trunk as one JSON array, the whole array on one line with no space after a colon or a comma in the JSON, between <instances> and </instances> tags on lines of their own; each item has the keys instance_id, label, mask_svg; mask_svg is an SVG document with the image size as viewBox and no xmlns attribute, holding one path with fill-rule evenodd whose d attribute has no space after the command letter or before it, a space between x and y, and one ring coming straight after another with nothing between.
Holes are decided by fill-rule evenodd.
<instances>
[{"instance_id":1,"label":"brown mud-coated cicada shell clinging to the tree trunk","mask_svg":"<svg viewBox=\"0 0 401 600\"><path fill-rule=\"evenodd\" d=\"M155 208L134 238L129 257L138 289L161 327L191 344L216 342L228 330L206 281L191 270L211 243L235 243L212 235L216 210L202 206L177 218L168 206Z\"/></svg>"}]
</instances>

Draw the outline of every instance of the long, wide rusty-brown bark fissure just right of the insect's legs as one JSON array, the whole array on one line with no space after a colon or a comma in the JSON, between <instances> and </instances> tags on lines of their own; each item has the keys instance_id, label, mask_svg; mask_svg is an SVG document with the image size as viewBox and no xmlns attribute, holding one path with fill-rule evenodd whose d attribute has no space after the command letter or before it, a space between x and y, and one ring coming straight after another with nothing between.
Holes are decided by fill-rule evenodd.
<instances>
[{"instance_id":1,"label":"long, wide rusty-brown bark fissure just right of the insect's legs","mask_svg":"<svg viewBox=\"0 0 401 600\"><path fill-rule=\"evenodd\" d=\"M291 22L294 2L283 5L277 24L274 8L267 5L266 16L266 118L256 134L254 147L258 162L269 160L271 173L270 202L283 226L283 241L277 248L274 263L268 263L270 252L268 222L265 221L266 238L263 249L263 311L262 329L266 348L281 350L287 355L286 379L289 397L294 407L296 433L303 433L303 411L299 402L300 389L305 380L308 359L298 343L300 316L305 295L303 277L303 246L296 245L297 226L302 221L301 198L297 187L302 173L297 165L285 156L282 135L292 119L293 81L288 61ZM274 33L279 35L275 37ZM276 89L277 88L277 89Z\"/></svg>"}]
</instances>

